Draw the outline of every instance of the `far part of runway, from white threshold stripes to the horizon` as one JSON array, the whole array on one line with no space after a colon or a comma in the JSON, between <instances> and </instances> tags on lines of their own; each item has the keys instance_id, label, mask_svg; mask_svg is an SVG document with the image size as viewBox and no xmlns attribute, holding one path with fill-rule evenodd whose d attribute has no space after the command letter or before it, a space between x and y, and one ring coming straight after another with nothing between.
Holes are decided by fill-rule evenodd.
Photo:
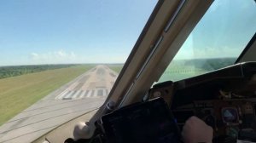
<instances>
[{"instance_id":1,"label":"far part of runway, from white threshold stripes to the horizon","mask_svg":"<svg viewBox=\"0 0 256 143\"><path fill-rule=\"evenodd\" d=\"M75 100L84 98L106 97L118 74L108 66L96 66L86 74L69 83L55 100Z\"/></svg>"}]
</instances>

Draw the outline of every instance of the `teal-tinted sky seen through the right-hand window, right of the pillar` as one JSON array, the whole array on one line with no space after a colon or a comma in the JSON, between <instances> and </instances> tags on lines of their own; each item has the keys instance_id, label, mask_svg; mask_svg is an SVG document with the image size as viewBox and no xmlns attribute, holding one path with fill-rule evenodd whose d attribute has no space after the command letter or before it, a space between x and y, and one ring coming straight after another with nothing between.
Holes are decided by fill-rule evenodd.
<instances>
[{"instance_id":1,"label":"teal-tinted sky seen through the right-hand window, right of the pillar","mask_svg":"<svg viewBox=\"0 0 256 143\"><path fill-rule=\"evenodd\" d=\"M215 0L175 59L237 58L255 32L254 0Z\"/></svg>"}]
</instances>

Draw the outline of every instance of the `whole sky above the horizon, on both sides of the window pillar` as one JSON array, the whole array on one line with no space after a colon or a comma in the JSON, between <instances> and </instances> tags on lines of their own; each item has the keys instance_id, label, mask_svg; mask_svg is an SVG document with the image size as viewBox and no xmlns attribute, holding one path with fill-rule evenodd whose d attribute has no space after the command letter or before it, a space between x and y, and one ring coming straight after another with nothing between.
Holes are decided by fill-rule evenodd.
<instances>
[{"instance_id":1,"label":"whole sky above the horizon, on both sides of the window pillar","mask_svg":"<svg viewBox=\"0 0 256 143\"><path fill-rule=\"evenodd\" d=\"M124 63L156 0L1 0L0 66ZM236 57L256 31L253 0L215 0L176 59Z\"/></svg>"}]
</instances>

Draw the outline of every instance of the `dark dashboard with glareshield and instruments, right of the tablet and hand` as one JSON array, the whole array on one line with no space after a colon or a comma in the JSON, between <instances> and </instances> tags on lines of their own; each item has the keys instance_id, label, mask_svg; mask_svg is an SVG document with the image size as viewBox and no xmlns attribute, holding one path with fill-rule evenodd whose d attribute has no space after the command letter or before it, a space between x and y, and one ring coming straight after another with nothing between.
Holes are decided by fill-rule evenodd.
<instances>
[{"instance_id":1,"label":"dark dashboard with glareshield and instruments, right of the tablet and hand","mask_svg":"<svg viewBox=\"0 0 256 143\"><path fill-rule=\"evenodd\" d=\"M163 97L180 129L192 116L214 131L213 142L256 142L256 63L247 62L177 82L160 83L149 98Z\"/></svg>"}]
</instances>

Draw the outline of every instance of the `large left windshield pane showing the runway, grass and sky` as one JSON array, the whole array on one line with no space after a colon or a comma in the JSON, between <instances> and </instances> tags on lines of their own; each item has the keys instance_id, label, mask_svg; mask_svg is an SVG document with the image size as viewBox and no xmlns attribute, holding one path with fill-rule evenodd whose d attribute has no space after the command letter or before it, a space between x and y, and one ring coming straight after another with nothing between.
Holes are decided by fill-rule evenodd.
<instances>
[{"instance_id":1,"label":"large left windshield pane showing the runway, grass and sky","mask_svg":"<svg viewBox=\"0 0 256 143\"><path fill-rule=\"evenodd\" d=\"M0 1L0 142L102 106L156 3Z\"/></svg>"}]
</instances>

